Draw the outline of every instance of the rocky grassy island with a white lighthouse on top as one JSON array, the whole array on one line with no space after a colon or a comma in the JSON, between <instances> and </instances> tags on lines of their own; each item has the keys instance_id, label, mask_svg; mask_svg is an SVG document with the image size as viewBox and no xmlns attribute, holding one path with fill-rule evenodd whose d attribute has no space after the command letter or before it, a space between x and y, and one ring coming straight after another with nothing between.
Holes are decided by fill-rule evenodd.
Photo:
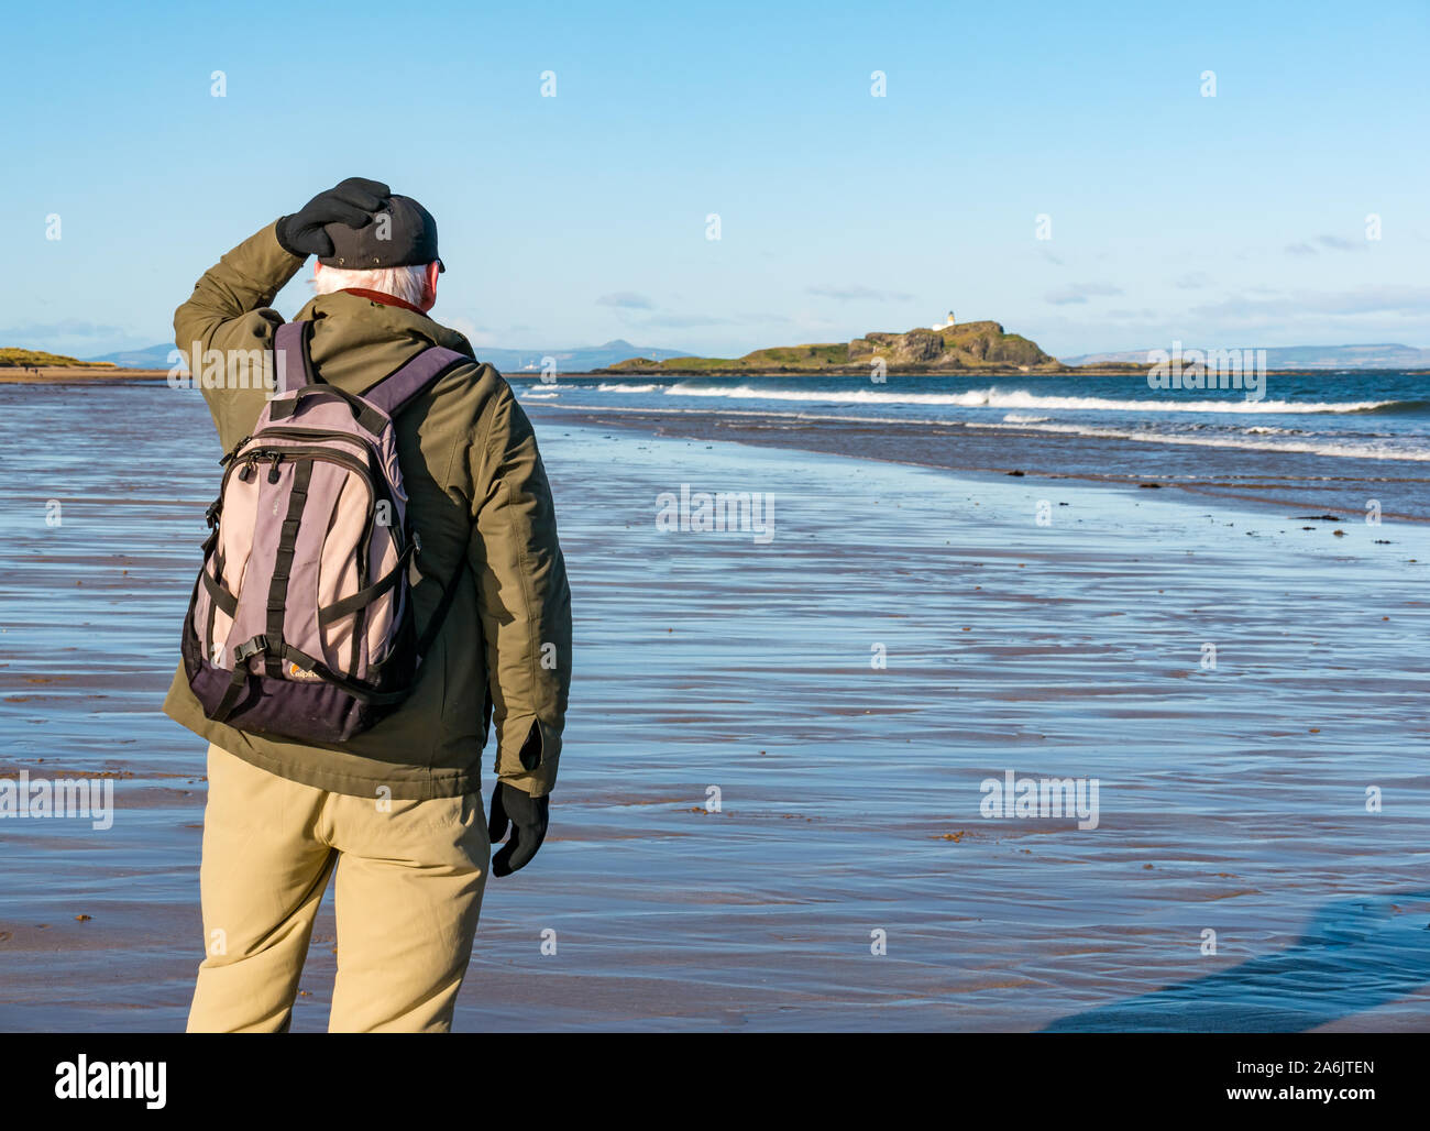
<instances>
[{"instance_id":1,"label":"rocky grassy island with a white lighthouse on top","mask_svg":"<svg viewBox=\"0 0 1430 1131\"><path fill-rule=\"evenodd\" d=\"M962 322L938 329L918 326L905 333L871 330L852 342L774 346L744 357L632 357L612 373L854 373L868 372L877 357L889 369L917 373L970 370L1058 370L1062 365L1037 342L1007 333L997 322Z\"/></svg>"}]
</instances>

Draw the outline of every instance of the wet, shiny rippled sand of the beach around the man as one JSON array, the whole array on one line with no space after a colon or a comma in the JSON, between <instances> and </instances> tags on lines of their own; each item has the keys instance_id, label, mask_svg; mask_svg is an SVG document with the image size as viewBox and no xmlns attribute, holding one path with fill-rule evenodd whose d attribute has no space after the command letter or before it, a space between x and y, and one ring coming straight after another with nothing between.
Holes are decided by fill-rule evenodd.
<instances>
[{"instance_id":1,"label":"wet, shiny rippled sand of the beach around the man","mask_svg":"<svg viewBox=\"0 0 1430 1131\"><path fill-rule=\"evenodd\" d=\"M459 1028L1430 1028L1423 525L532 418L576 678ZM217 443L162 386L0 389L0 776L133 775L109 831L0 821L0 1029L177 1029L203 742L159 702ZM682 483L774 539L658 530ZM984 818L1007 771L1097 778L1097 828ZM329 897L295 1028L333 969Z\"/></svg>"}]
</instances>

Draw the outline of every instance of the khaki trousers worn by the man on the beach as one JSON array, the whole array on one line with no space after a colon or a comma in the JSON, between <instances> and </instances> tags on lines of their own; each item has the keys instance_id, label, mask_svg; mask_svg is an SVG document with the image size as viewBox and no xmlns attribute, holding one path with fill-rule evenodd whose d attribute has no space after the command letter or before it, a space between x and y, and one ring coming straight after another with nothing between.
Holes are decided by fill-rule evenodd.
<instances>
[{"instance_id":1,"label":"khaki trousers worn by the man on the beach","mask_svg":"<svg viewBox=\"0 0 1430 1131\"><path fill-rule=\"evenodd\" d=\"M446 1032L492 846L480 794L329 794L209 746L190 1032L282 1032L336 869L330 1032Z\"/></svg>"}]
</instances>

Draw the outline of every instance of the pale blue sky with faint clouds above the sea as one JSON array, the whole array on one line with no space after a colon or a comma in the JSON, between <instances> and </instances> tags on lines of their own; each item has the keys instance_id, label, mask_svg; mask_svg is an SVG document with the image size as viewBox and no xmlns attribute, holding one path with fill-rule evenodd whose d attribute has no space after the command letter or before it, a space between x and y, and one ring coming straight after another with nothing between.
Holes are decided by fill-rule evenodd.
<instances>
[{"instance_id":1,"label":"pale blue sky with faint clouds above the sea","mask_svg":"<svg viewBox=\"0 0 1430 1131\"><path fill-rule=\"evenodd\" d=\"M436 214L433 316L478 346L728 356L948 309L1060 356L1430 346L1424 0L157 0L6 33L0 345L164 342L219 255L368 176Z\"/></svg>"}]
</instances>

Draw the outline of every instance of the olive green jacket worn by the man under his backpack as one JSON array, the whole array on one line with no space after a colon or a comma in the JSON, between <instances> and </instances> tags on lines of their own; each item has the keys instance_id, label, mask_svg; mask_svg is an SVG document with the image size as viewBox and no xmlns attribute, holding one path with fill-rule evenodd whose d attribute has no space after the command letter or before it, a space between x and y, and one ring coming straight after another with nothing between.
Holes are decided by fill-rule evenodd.
<instances>
[{"instance_id":1,"label":"olive green jacket worn by the man under his backpack","mask_svg":"<svg viewBox=\"0 0 1430 1131\"><path fill-rule=\"evenodd\" d=\"M269 303L303 266L269 224L197 282L174 312L174 339L223 450L253 430L267 397L247 382L203 380L203 350L272 349L283 319ZM360 393L428 346L472 356L468 340L426 315L350 292L299 312L313 322L322 380ZM253 382L256 385L256 382ZM409 699L342 746L249 735L204 718L180 665L164 712L256 766L303 785L400 801L480 789L488 691L496 723L496 774L533 795L551 792L571 683L571 591L556 540L551 488L531 422L492 366L472 360L443 376L398 416L398 463L409 518L422 535L423 581L413 588L420 632L442 585L458 585ZM213 488L217 492L214 462ZM194 571L199 568L194 555ZM390 792L383 792L383 786Z\"/></svg>"}]
</instances>

